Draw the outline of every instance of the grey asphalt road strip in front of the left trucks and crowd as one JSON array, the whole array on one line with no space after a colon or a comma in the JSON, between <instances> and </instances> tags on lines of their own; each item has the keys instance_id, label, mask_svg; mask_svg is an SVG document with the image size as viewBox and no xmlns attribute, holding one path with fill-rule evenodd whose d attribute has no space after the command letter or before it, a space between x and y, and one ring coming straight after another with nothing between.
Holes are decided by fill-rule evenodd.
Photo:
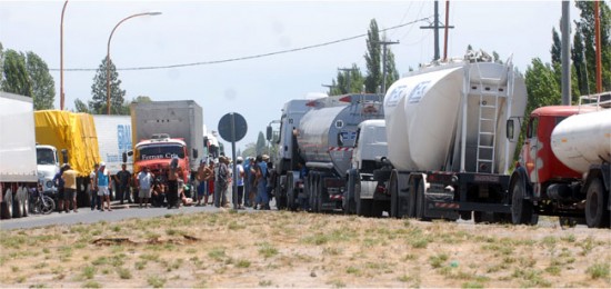
<instances>
[{"instance_id":1,"label":"grey asphalt road strip in front of the left trucks and crowd","mask_svg":"<svg viewBox=\"0 0 611 289\"><path fill-rule=\"evenodd\" d=\"M119 205L112 202L112 211L99 211L91 210L90 208L79 208L78 212L62 212L57 211L50 215L30 215L26 218L16 218L9 220L0 220L0 230L11 230L11 229L28 229L37 227L46 227L51 225L76 225L76 223L94 223L99 221L120 221L130 218L152 218L159 216L166 216L168 213L194 213L194 212L217 212L220 210L228 210L222 208L216 208L214 206L208 205L206 207L180 207L179 209L168 209L168 208L138 208L137 205ZM243 212L254 211L251 208L246 210L240 210Z\"/></svg>"}]
</instances>

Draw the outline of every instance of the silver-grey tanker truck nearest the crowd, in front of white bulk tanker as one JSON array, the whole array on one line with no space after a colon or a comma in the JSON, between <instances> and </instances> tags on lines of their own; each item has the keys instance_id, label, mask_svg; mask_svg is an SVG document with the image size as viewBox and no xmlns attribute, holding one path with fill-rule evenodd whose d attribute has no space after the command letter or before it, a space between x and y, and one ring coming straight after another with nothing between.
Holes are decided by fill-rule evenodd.
<instances>
[{"instance_id":1,"label":"silver-grey tanker truck nearest the crowd, in front of white bulk tanker","mask_svg":"<svg viewBox=\"0 0 611 289\"><path fill-rule=\"evenodd\" d=\"M280 176L280 202L286 198L289 209L301 206L313 212L342 210L358 126L382 117L381 94L288 102L274 163Z\"/></svg>"}]
</instances>

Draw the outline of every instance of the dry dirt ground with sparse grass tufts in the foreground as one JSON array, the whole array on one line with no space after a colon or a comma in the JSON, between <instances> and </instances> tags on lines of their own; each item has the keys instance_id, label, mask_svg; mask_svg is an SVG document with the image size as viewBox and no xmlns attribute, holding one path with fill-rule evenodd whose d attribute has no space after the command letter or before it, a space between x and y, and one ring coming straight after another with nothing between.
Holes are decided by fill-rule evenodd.
<instances>
[{"instance_id":1,"label":"dry dirt ground with sparse grass tufts in the foreground","mask_svg":"<svg viewBox=\"0 0 611 289\"><path fill-rule=\"evenodd\" d=\"M304 212L0 232L0 287L611 287L608 229Z\"/></svg>"}]
</instances>

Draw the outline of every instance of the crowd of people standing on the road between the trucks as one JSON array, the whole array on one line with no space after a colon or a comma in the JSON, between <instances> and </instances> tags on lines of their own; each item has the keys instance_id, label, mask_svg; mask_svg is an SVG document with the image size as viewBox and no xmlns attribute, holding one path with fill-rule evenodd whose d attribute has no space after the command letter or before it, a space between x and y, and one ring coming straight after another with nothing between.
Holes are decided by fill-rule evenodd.
<instances>
[{"instance_id":1,"label":"crowd of people standing on the road between the trucks","mask_svg":"<svg viewBox=\"0 0 611 289\"><path fill-rule=\"evenodd\" d=\"M257 156L256 158L238 157L236 162L221 156L218 159L208 158L201 161L197 172L193 172L193 178L197 188L197 203L190 198L190 186L184 182L183 169L178 166L178 159L172 159L166 169L160 169L157 172L151 172L150 168L142 167L140 172L133 178L131 172L127 170L123 163L121 170L111 176L102 161L96 163L90 173L90 200L91 210L112 211L110 206L111 200L111 183L114 182L117 189L117 198L120 203L124 201L132 203L138 201L140 208L168 207L179 208L182 206L207 206L213 205L217 208L228 208L234 203L237 209L252 207L259 210L270 209L270 199L273 197L274 172L272 163L268 162L269 157L266 155ZM234 166L234 168L233 168ZM236 178L233 177L236 169ZM61 171L56 176L56 185L59 189L59 209L60 211L69 211L70 208L77 212L77 172L70 169L70 166L64 165ZM236 181L237 199L231 200L228 195L230 188ZM133 188L133 197L132 197ZM209 202L212 197L212 202ZM138 200L137 200L138 199Z\"/></svg>"}]
</instances>

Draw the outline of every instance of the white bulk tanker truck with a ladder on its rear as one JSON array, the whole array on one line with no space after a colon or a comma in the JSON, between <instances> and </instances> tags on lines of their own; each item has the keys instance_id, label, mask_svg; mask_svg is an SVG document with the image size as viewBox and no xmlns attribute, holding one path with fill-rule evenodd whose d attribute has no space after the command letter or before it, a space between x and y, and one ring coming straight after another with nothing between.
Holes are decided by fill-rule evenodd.
<instances>
[{"instance_id":1,"label":"white bulk tanker truck with a ladder on its rear","mask_svg":"<svg viewBox=\"0 0 611 289\"><path fill-rule=\"evenodd\" d=\"M507 121L524 114L527 90L511 61L484 52L424 66L384 98L388 158L375 173L391 217L508 221Z\"/></svg>"}]
</instances>

